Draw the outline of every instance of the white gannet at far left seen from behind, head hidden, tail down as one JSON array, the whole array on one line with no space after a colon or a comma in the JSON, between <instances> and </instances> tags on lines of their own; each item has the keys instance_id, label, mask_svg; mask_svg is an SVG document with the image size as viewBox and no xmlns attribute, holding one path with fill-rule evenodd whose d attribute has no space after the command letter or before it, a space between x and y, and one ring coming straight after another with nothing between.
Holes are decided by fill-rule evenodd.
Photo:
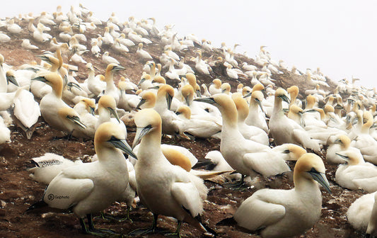
<instances>
[{"instance_id":1,"label":"white gannet at far left seen from behind, head hidden, tail down","mask_svg":"<svg viewBox=\"0 0 377 238\"><path fill-rule=\"evenodd\" d=\"M17 125L25 132L28 140L33 135L35 123L40 117L40 106L34 101L34 96L29 91L21 90L14 98L13 115L15 116Z\"/></svg>"}]
</instances>

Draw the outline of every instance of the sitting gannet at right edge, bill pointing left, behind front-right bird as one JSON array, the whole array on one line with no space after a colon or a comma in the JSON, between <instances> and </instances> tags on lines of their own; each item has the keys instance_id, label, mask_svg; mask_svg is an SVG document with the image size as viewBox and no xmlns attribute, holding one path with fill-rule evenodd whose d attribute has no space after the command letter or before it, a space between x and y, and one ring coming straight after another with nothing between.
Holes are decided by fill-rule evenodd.
<instances>
[{"instance_id":1,"label":"sitting gannet at right edge, bill pointing left, behind front-right bird","mask_svg":"<svg viewBox=\"0 0 377 238\"><path fill-rule=\"evenodd\" d=\"M343 188L357 190L359 188L373 193L377 191L377 167L364 162L361 154L352 151L338 152L347 164L340 164L335 172L335 181Z\"/></svg>"}]
</instances>

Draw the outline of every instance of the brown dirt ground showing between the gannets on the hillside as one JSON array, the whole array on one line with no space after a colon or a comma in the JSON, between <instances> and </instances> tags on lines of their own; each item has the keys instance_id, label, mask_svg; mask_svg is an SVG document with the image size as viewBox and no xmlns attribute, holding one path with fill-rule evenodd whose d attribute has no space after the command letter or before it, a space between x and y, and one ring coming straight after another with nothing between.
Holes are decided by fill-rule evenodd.
<instances>
[{"instance_id":1,"label":"brown dirt ground showing between the gannets on the hillside","mask_svg":"<svg viewBox=\"0 0 377 238\"><path fill-rule=\"evenodd\" d=\"M12 40L9 43L0 44L0 53L4 55L6 63L19 66L21 64L29 63L33 60L39 62L35 55L40 55L41 50L27 51L21 48L21 39L32 38L28 33L25 22L19 23L23 26L23 33L21 35L11 35ZM5 29L0 29L5 30ZM90 38L94 38L96 34L103 33L103 28L99 28L95 31L88 31L86 37L88 42L86 43L90 50ZM52 35L57 36L59 30L52 28ZM163 51L163 47L158 44L158 39L153 38L153 44L147 45L145 50L151 52L155 60L158 62L158 55ZM39 44L31 40L34 45L40 47L40 49L48 50L49 42ZM126 68L124 72L121 72L116 76L119 79L120 75L124 75L137 82L141 76L141 68L144 62L139 62L135 57L137 47L130 47L130 52L127 54L117 54L111 49L110 55L117 57L120 60L123 67ZM194 63L190 62L190 57L196 57L195 49L189 49L180 53L181 57L185 57L186 62L190 66L194 67ZM105 50L103 50L105 51ZM219 50L216 50L212 55L216 59L219 56ZM204 59L207 59L211 55L208 52L204 52ZM97 59L91 55L90 52L84 54L84 58L88 62L92 62L95 67L100 70L100 73L104 74L105 67L100 59ZM236 55L238 62L248 62L254 64L252 59L246 58L243 55ZM86 70L83 68L85 65L79 65L79 73L77 79L86 79ZM224 75L224 71L221 68L214 69L216 74L209 76L198 76L200 84L209 84L214 77L221 79L222 81L228 81L233 89L236 88L238 82L242 82L245 86L250 86L248 79L240 79L239 81L232 81ZM301 92L309 88L309 86L303 84L303 77L294 76L289 72L284 72L281 75L274 75L274 79L278 79L278 86L284 88L297 84L300 86ZM330 82L330 90L335 89L335 84ZM301 95L302 96L302 95ZM62 135L62 132L58 132L50 128L42 118L37 123L37 129L31 140L27 140L16 126L11 128L11 140L12 142L4 145L0 150L0 237L91 237L84 236L80 232L79 220L73 214L63 213L47 213L44 215L28 213L25 214L25 210L37 200L42 197L45 186L30 179L29 173L26 170L31 166L30 159L33 157L39 157L46 152L53 152L61 154L68 159L75 159L80 157L84 161L88 158L86 155L93 155L93 141L80 142L78 140L52 140L52 137L56 135ZM134 133L129 132L129 142L133 140ZM170 142L164 139L163 142ZM182 145L192 151L198 159L204 158L207 152L213 149L219 149L219 140L195 140L186 141L178 140L176 145ZM335 181L336 166L326 164L327 178L330 181L332 194L323 191L323 210L320 220L314 225L314 227L308 230L305 234L298 237L362 237L360 232L356 232L347 222L345 215L349 205L364 194L362 191L349 191L347 189L338 186ZM291 164L293 169L294 164ZM291 179L291 173L284 174L283 176L272 177L268 179L261 179L260 188L292 188L293 182ZM209 226L216 230L219 237L258 237L256 234L246 234L240 232L240 230L233 226L219 226L217 222L223 220L226 217L231 217L233 212L238 208L240 203L248 198L256 191L256 188L248 189L247 191L232 191L228 188L223 188L216 183L206 181L206 185L209 187L208 201L204 203L204 214L202 216L205 222L208 222ZM108 212L113 215L124 217L126 214L125 205L123 203L117 203L112 205ZM250 214L253 215L253 214ZM139 227L148 227L151 225L152 216L151 213L139 205L137 208L131 211L131 218L133 223L105 221L102 219L95 220L97 227L114 229L120 234L127 234L133 229ZM176 224L167 217L160 217L158 220L158 226L174 231ZM182 225L183 237L200 237L200 232L193 229L189 225ZM148 237L163 237L161 234L153 234Z\"/></svg>"}]
</instances>

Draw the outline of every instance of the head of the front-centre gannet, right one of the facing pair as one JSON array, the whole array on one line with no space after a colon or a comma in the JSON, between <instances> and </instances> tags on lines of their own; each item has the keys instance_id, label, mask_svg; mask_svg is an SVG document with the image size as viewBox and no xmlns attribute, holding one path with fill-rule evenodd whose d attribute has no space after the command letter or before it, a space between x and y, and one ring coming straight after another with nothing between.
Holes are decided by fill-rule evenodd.
<instances>
[{"instance_id":1,"label":"head of the front-centre gannet, right one of the facing pair","mask_svg":"<svg viewBox=\"0 0 377 238\"><path fill-rule=\"evenodd\" d=\"M150 132L156 131L161 137L161 116L151 108L138 111L134 117L137 132L132 147L135 147L141 139Z\"/></svg>"}]
</instances>

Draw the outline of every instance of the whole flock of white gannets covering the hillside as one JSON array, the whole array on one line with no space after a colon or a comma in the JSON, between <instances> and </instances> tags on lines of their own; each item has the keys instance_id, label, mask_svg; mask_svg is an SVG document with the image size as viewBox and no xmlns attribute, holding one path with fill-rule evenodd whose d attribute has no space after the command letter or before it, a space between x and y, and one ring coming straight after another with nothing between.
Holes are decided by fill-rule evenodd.
<instances>
[{"instance_id":1,"label":"whole flock of white gannets covering the hillside","mask_svg":"<svg viewBox=\"0 0 377 238\"><path fill-rule=\"evenodd\" d=\"M349 222L377 234L376 92L356 86L357 79L331 89L319 68L288 69L265 46L245 62L245 55L235 54L238 45L216 48L193 34L180 38L173 25L159 29L154 18L122 22L112 13L100 21L81 4L65 14L58 6L52 14L6 18L0 30L1 45L17 40L35 56L12 66L0 55L0 146L13 143L11 125L33 140L42 116L64 132L60 140L93 140L95 147L88 163L52 152L33 158L30 179L47 188L27 212L68 210L79 217L82 232L107 237L121 234L95 228L92 215L117 201L127 204L129 219L137 202L152 212L153 225L127 234L180 237L187 222L216 237L217 227L201 219L209 191L204 179L246 192L258 178L288 173L295 164L294 188L260 189L223 221L261 237L293 237L320 219L320 186L326 193L334 186L325 164L339 164L331 179L368 193L350 206ZM119 56L131 54L133 65L143 65L139 79L122 74L132 66L121 65ZM98 65L105 65L102 74ZM86 79L76 80L79 74ZM291 80L289 87L282 87L282 76ZM301 85L307 90L299 94ZM161 144L161 137L176 145ZM179 146L197 138L214 138L220 151L196 158ZM174 217L176 232L158 227L158 215Z\"/></svg>"}]
</instances>

